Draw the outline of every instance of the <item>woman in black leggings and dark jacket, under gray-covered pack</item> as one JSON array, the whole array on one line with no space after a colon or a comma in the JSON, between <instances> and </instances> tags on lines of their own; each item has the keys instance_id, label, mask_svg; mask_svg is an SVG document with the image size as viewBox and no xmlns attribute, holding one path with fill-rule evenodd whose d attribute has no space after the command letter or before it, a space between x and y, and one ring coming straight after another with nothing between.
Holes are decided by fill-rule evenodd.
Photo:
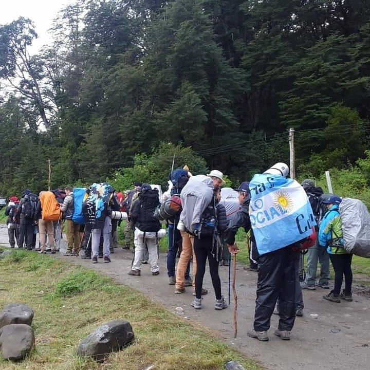
<instances>
[{"instance_id":1,"label":"woman in black leggings and dark jacket, under gray-covered pack","mask_svg":"<svg viewBox=\"0 0 370 370\"><path fill-rule=\"evenodd\" d=\"M218 274L218 256L222 248L221 234L227 229L226 210L219 204L221 199L221 188L216 186L213 197L206 209L202 212L200 223L193 231L194 253L197 261L195 274L195 299L191 305L195 309L201 309L201 289L206 272L208 260L213 289L216 296L215 309L222 310L228 307L221 293L221 282Z\"/></svg>"}]
</instances>

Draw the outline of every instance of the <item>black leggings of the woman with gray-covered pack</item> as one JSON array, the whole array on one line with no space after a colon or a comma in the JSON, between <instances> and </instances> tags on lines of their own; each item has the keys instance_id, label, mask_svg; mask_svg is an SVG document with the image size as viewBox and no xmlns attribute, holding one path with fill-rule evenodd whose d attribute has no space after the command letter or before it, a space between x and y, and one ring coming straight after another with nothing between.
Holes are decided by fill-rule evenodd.
<instances>
[{"instance_id":1,"label":"black leggings of the woman with gray-covered pack","mask_svg":"<svg viewBox=\"0 0 370 370\"><path fill-rule=\"evenodd\" d=\"M206 272L206 261L210 267L211 279L213 289L215 291L216 299L221 299L221 282L218 276L218 262L216 256L212 255L213 236L202 237L201 239L194 238L194 253L197 262L197 272L195 274L195 297L201 298L201 288L203 285L203 278Z\"/></svg>"}]
</instances>

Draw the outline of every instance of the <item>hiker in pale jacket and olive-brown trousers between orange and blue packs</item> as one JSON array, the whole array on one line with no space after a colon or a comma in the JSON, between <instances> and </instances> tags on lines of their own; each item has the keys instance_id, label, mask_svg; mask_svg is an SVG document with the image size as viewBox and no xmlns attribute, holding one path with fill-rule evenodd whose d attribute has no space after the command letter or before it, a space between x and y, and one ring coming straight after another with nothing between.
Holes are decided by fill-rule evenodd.
<instances>
[{"instance_id":1,"label":"hiker in pale jacket and olive-brown trousers between orange and blue packs","mask_svg":"<svg viewBox=\"0 0 370 370\"><path fill-rule=\"evenodd\" d=\"M63 205L60 207L63 212L65 222L67 225L67 250L64 256L76 255L80 247L80 225L73 221L73 214L75 213L74 194L71 187L64 189L66 197L64 198Z\"/></svg>"}]
</instances>

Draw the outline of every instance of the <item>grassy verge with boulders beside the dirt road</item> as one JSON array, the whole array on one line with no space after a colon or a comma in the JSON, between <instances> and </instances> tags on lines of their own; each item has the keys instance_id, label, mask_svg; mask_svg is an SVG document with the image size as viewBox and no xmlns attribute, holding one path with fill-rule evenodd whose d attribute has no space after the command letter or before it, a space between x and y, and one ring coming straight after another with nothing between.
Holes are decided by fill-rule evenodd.
<instances>
[{"instance_id":1,"label":"grassy verge with boulders beside the dirt road","mask_svg":"<svg viewBox=\"0 0 370 370\"><path fill-rule=\"evenodd\" d=\"M18 364L0 359L1 369L138 370L155 365L160 370L205 370L222 369L232 359L246 369L260 368L138 291L51 256L15 250L0 261L0 282L0 307L30 305L36 337L29 358ZM82 338L114 319L130 321L136 336L133 345L100 365L75 355Z\"/></svg>"}]
</instances>

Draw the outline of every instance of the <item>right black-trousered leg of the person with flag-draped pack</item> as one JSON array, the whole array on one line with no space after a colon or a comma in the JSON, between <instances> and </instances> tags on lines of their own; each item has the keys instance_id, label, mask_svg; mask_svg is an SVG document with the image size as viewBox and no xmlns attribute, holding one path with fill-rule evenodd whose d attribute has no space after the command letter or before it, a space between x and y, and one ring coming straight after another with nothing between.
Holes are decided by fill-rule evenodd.
<instances>
[{"instance_id":1,"label":"right black-trousered leg of the person with flag-draped pack","mask_svg":"<svg viewBox=\"0 0 370 370\"><path fill-rule=\"evenodd\" d=\"M295 290L297 284L300 286L298 278L300 252L293 252L289 247L283 248L281 252L283 281L279 294L279 330L290 331L294 325L297 309Z\"/></svg>"}]
</instances>

